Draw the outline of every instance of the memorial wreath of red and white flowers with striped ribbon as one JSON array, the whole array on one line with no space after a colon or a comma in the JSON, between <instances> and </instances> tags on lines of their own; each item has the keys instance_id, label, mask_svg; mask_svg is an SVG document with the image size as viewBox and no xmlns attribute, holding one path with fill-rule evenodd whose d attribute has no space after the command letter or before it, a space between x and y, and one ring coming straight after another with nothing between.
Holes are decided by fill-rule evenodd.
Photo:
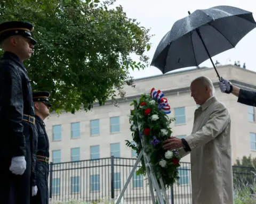
<instances>
[{"instance_id":1,"label":"memorial wreath of red and white flowers with striped ribbon","mask_svg":"<svg viewBox=\"0 0 256 204\"><path fill-rule=\"evenodd\" d=\"M135 150L137 156L143 149L150 158L149 163L158 183L162 177L165 188L169 188L179 179L180 156L177 150L163 149L163 141L170 138L172 134L170 123L174 121L174 118L167 116L171 111L167 99L163 96L162 91L156 91L153 88L150 95L142 94L140 99L133 100L131 106L134 106L134 109L131 110L129 120L133 141L126 140L126 146ZM143 157L137 175L146 175Z\"/></svg>"}]
</instances>

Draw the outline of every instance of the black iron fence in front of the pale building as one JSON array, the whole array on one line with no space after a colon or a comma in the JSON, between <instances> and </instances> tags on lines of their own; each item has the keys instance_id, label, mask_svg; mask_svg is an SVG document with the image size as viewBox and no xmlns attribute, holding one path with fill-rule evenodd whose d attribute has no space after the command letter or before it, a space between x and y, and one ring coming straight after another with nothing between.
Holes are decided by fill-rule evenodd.
<instances>
[{"instance_id":1,"label":"black iron fence in front of the pale building","mask_svg":"<svg viewBox=\"0 0 256 204\"><path fill-rule=\"evenodd\" d=\"M50 198L58 201L81 200L87 202L117 198L132 171L136 159L101 158L50 164ZM140 165L137 167L140 167ZM237 186L255 179L252 167L233 167ZM172 204L191 203L190 163L181 163L179 184L167 189ZM163 178L164 179L164 178ZM134 173L124 193L125 203L152 203L147 178Z\"/></svg>"}]
</instances>

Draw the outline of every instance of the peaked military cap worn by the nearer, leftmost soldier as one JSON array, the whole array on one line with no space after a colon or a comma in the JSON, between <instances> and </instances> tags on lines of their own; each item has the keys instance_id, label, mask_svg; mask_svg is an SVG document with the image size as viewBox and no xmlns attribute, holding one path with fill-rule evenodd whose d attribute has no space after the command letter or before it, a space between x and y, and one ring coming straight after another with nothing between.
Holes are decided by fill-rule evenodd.
<instances>
[{"instance_id":1,"label":"peaked military cap worn by the nearer, leftmost soldier","mask_svg":"<svg viewBox=\"0 0 256 204\"><path fill-rule=\"evenodd\" d=\"M31 40L33 45L36 44L36 40L32 38L31 32L34 30L34 25L30 22L24 21L9 21L0 24L0 41L14 36L20 35Z\"/></svg>"}]
</instances>

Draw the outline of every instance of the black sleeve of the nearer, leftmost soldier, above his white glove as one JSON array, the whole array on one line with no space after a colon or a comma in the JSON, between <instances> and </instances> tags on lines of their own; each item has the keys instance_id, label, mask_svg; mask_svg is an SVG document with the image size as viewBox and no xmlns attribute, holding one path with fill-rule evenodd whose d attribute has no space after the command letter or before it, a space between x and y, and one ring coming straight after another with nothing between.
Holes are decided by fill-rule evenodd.
<instances>
[{"instance_id":1,"label":"black sleeve of the nearer, leftmost soldier, above his white glove","mask_svg":"<svg viewBox=\"0 0 256 204\"><path fill-rule=\"evenodd\" d=\"M2 64L0 71L1 106L5 130L10 137L10 155L25 156L25 135L23 134L23 94L20 73L10 64Z\"/></svg>"}]
</instances>

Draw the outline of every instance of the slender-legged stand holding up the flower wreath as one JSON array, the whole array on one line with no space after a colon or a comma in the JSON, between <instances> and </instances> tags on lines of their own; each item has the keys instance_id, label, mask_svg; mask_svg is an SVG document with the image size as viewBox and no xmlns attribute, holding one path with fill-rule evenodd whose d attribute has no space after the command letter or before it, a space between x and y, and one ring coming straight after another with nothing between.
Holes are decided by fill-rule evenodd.
<instances>
[{"instance_id":1,"label":"slender-legged stand holding up the flower wreath","mask_svg":"<svg viewBox=\"0 0 256 204\"><path fill-rule=\"evenodd\" d=\"M142 147L143 147L143 137L144 137L144 135L142 135L142 137L141 137ZM127 186L130 183L130 181L132 179L132 176L133 176L133 173L135 172L135 169L138 167L138 164L141 161L142 156L143 156L144 161L145 161L148 184L149 184L149 190L150 190L150 196L151 196L151 199L153 201L153 204L156 204L156 203L158 203L158 204L169 204L169 200L168 200L168 197L167 197L167 193L166 193L166 189L165 189L165 186L164 186L163 179L162 179L162 177L159 179L161 187L162 187L162 189L160 189L159 185L158 185L158 182L157 182L157 179L156 179L155 172L153 171L153 168L152 168L151 164L149 163L150 162L150 157L145 153L145 151L143 151L143 148L140 151L140 154L139 154L139 156L138 156L138 158L137 158L137 160L136 160L136 162L135 162L135 164L132 168L132 171L131 171L130 175L128 176L127 181L124 184L124 188L122 189L122 191L121 191L118 199L116 200L115 204L119 204L122 197L124 196L124 192L126 191ZM157 200L157 202L156 202L155 197L154 197L154 190L156 191L156 200Z\"/></svg>"}]
</instances>

